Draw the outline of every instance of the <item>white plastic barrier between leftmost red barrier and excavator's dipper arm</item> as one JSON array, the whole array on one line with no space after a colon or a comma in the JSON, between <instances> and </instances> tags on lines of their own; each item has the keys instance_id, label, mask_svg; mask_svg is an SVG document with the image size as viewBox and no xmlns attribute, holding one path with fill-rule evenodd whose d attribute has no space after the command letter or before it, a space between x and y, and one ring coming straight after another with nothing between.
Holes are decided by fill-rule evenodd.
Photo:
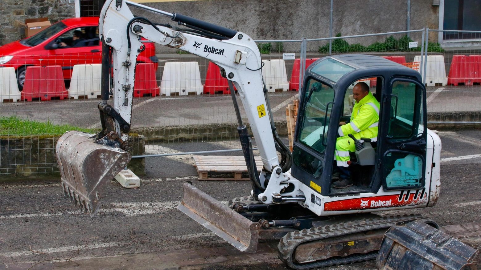
<instances>
[{"instance_id":1,"label":"white plastic barrier between leftmost red barrier and excavator's dipper arm","mask_svg":"<svg viewBox=\"0 0 481 270\"><path fill-rule=\"evenodd\" d=\"M101 95L101 64L74 65L69 97L97 98Z\"/></svg>"}]
</instances>

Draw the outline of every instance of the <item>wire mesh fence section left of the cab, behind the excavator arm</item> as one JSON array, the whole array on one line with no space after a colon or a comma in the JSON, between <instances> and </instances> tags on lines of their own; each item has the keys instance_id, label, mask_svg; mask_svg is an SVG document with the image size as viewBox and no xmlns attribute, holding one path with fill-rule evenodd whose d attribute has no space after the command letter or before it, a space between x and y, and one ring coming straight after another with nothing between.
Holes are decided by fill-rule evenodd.
<instances>
[{"instance_id":1,"label":"wire mesh fence section left of the cab, behind the excavator arm","mask_svg":"<svg viewBox=\"0 0 481 270\"><path fill-rule=\"evenodd\" d=\"M82 34L89 30L82 29ZM82 46L75 46L68 34L59 41L66 46L55 48L54 57L18 56L0 68L0 174L56 172L54 148L66 130L95 133L101 128L98 36L95 44L82 37ZM290 91L296 60L283 60L283 53L295 56L299 43L284 46L287 43L259 42L278 122L285 122L285 107L297 94ZM132 137L141 135L142 143L132 145L132 155L176 153L183 151L178 147L182 143L236 139L232 98L218 66L180 50L155 55L154 45L145 44L147 49L137 59L131 122ZM298 80L297 70L294 81ZM245 115L242 106L241 114Z\"/></svg>"}]
</instances>

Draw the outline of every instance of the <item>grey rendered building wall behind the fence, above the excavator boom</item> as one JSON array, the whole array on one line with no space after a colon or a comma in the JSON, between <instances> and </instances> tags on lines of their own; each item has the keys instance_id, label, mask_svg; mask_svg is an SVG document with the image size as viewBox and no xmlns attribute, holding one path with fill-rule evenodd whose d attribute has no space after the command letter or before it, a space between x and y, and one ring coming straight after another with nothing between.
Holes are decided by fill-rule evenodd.
<instances>
[{"instance_id":1,"label":"grey rendered building wall behind the fence, above the excavator boom","mask_svg":"<svg viewBox=\"0 0 481 270\"><path fill-rule=\"evenodd\" d=\"M329 37L329 0L205 0L143 3L166 12L177 12L209 23L244 32L253 39L300 39ZM138 16L154 22L170 19L147 11L131 9ZM432 0L411 0L410 28L438 29L439 6ZM177 25L177 24L176 24ZM335 0L333 4L333 36L363 35L407 30L407 0ZM395 36L396 38L402 35ZM411 34L421 42L421 34ZM386 36L346 39L350 44L370 45L384 42ZM437 35L430 35L437 41ZM308 51L316 51L324 42L311 42ZM284 50L299 51L298 43L284 43ZM157 51L176 49L157 46Z\"/></svg>"}]
</instances>

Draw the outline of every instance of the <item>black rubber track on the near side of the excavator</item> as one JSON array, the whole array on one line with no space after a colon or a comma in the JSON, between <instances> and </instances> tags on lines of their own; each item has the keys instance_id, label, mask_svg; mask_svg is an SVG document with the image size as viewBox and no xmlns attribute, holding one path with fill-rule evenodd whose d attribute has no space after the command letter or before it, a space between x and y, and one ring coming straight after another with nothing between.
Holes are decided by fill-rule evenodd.
<instances>
[{"instance_id":1,"label":"black rubber track on the near side of the excavator","mask_svg":"<svg viewBox=\"0 0 481 270\"><path fill-rule=\"evenodd\" d=\"M420 219L426 221L428 219L420 215L403 215L403 216L389 216L370 218L359 221L340 222L337 224L325 225L317 228L304 229L302 231L295 231L287 233L282 237L278 244L278 256L289 267L296 270L306 270L311 268L326 267L332 265L353 263L375 259L378 251L372 251L367 254L353 254L347 257L333 257L321 261L297 263L292 260L296 247L300 244L327 239L331 237L339 237L350 233L359 233L364 231L376 230L386 228L401 221L408 221L412 219Z\"/></svg>"}]
</instances>

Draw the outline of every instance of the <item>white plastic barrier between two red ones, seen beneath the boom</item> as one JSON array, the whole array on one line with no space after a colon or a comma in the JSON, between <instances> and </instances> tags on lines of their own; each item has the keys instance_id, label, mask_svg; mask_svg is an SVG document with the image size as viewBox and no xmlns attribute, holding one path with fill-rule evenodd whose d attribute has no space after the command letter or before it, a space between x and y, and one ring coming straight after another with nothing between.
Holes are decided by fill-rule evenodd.
<instances>
[{"instance_id":1,"label":"white plastic barrier between two red ones, seen beneath the boom","mask_svg":"<svg viewBox=\"0 0 481 270\"><path fill-rule=\"evenodd\" d=\"M198 62L167 62L162 73L160 94L170 96L178 93L187 96L189 92L200 95L204 92Z\"/></svg>"}]
</instances>

